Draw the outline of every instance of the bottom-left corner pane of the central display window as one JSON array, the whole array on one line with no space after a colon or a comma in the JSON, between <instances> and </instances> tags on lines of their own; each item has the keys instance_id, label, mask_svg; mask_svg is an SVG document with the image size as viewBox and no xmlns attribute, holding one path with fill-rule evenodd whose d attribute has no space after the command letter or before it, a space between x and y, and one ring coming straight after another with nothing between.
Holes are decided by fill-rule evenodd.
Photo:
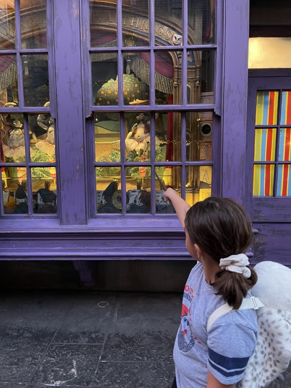
<instances>
[{"instance_id":1,"label":"bottom-left corner pane of the central display window","mask_svg":"<svg viewBox=\"0 0 291 388\"><path fill-rule=\"evenodd\" d=\"M97 213L121 213L120 167L96 167Z\"/></svg>"}]
</instances>

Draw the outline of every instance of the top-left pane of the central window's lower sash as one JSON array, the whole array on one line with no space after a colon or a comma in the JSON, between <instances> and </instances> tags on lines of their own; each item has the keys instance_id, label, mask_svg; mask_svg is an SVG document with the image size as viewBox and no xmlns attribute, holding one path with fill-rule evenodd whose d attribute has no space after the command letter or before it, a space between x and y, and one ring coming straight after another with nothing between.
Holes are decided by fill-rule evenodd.
<instances>
[{"instance_id":1,"label":"top-left pane of the central window's lower sash","mask_svg":"<svg viewBox=\"0 0 291 388\"><path fill-rule=\"evenodd\" d=\"M95 161L120 162L120 122L117 113L94 115Z\"/></svg>"}]
</instances>

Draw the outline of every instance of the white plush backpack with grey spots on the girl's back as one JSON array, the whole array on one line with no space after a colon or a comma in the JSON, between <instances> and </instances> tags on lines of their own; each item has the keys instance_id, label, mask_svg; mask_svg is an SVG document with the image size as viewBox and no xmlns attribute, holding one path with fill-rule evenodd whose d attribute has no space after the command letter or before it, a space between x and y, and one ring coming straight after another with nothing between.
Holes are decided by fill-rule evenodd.
<instances>
[{"instance_id":1,"label":"white plush backpack with grey spots on the girl's back","mask_svg":"<svg viewBox=\"0 0 291 388\"><path fill-rule=\"evenodd\" d=\"M258 343L237 388L267 386L288 368L291 360L291 269L271 261L261 262L254 269L258 281L252 289L253 297L244 299L240 309L256 309ZM217 309L209 317L207 330L230 311L228 304Z\"/></svg>"}]
</instances>

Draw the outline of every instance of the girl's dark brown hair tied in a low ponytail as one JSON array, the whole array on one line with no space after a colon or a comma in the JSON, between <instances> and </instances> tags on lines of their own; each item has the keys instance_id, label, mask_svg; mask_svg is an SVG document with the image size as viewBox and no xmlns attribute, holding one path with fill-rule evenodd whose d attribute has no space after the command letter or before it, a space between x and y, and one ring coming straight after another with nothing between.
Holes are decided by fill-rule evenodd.
<instances>
[{"instance_id":1,"label":"girl's dark brown hair tied in a low ponytail","mask_svg":"<svg viewBox=\"0 0 291 388\"><path fill-rule=\"evenodd\" d=\"M245 209L230 198L210 197L197 202L186 213L185 226L192 244L219 263L230 255L246 253L252 240L252 225ZM248 290L257 282L256 272L250 268L251 277L220 270L211 284L217 295L238 309Z\"/></svg>"}]
</instances>

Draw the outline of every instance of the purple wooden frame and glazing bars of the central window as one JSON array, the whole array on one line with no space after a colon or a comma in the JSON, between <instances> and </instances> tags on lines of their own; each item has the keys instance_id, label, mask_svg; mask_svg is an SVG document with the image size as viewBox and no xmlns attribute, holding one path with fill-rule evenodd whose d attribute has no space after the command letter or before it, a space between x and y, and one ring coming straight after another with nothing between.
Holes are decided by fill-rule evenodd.
<instances>
[{"instance_id":1,"label":"purple wooden frame and glazing bars of the central window","mask_svg":"<svg viewBox=\"0 0 291 388\"><path fill-rule=\"evenodd\" d=\"M217 112L220 108L220 96L217 95L216 90L220 90L221 88L221 78L215 76L214 79L214 95L215 95L215 101L217 101L216 104L187 104L187 50L195 50L195 51L209 51L214 50L216 52L216 58L218 55L220 55L220 51L218 49L218 44L200 44L200 45L181 45L177 46L156 46L155 45L155 13L154 13L154 5L155 0L149 0L149 46L138 46L138 47L124 47L122 46L122 2L119 1L116 7L116 15L117 15L117 47L90 47L90 33L89 33L89 7L87 2L82 2L81 5L81 23L84 26L84 40L86 43L83 45L83 63L84 66L84 72L83 72L83 80L84 80L84 111L85 116L90 117L87 121L87 133L91 135L91 137L88 139L87 147L88 147L88 157L89 160L88 163L88 183L89 183L89 190L90 190L90 198L94 198L96 196L96 182L95 182L95 173L94 169L95 167L110 167L110 166L120 166L121 168L121 189L123 192L122 195L122 213L121 214L108 214L108 215L98 215L96 214L96 201L93 200L90 202L91 206L89 208L89 217L90 219L100 220L102 223L106 222L106 219L114 219L116 220L117 225L119 222L130 222L125 221L125 218L128 218L129 220L132 220L132 218L136 218L139 220L142 219L148 219L151 217L151 215L154 215L154 209L152 207L151 213L144 216L144 215L131 215L126 214L126 199L125 199L125 187L126 187L126 177L125 177L125 167L124 166L136 166L136 163L133 162L125 162L125 142L124 142L124 131L120 131L120 151L121 151L121 163L112 163L112 164L105 164L105 163L98 163L98 162L90 162L94 160L94 149L93 149L93 142L90 141L93 137L93 122L92 117L94 117L94 113L98 112L116 112L120 114L120 126L123 128L124 123L124 116L123 114L126 112L139 112L140 107L132 107L132 106L126 106L123 104L122 99L119 100L118 106L108 106L108 107L97 107L91 105L91 67L90 67L90 55L91 53L98 53L98 52L117 52L117 58L118 58L118 88L119 90L122 90L122 78L123 78L123 52L141 52L146 51L150 52L150 104L145 106L142 106L142 110L145 113L151 114L151 125L154 127L154 113L155 112L181 112L181 143L186 142L186 113L187 112L197 112L197 111L204 111L204 112ZM218 14L218 11L216 10L216 14ZM217 19L217 18L216 18ZM187 2L183 2L182 5L182 25L183 25L183 36L188 36L188 23L187 23ZM217 21L216 21L217 24ZM86 29L86 31L85 31ZM217 29L216 29L217 31ZM218 37L216 36L215 41L217 42ZM165 105L165 106L157 106L155 105L155 52L162 52L162 51L179 51L182 52L182 104L181 105ZM216 72L215 74L220 73L221 67L220 61L215 61L215 67ZM153 112L153 113L152 113ZM218 137L219 137L219 121L217 118L213 118L213 126L215 127L215 131L213 134L213 149L218 149ZM154 143L155 133L154 131L151 132L151 141ZM91 146L91 147L90 147ZM218 153L214 153L218 154ZM201 161L186 161L186 149L185 147L182 147L181 150L181 161L180 162L153 162L155 160L155 150L154 148L151 148L151 161L152 162L144 162L144 166L148 166L152 169L155 168L155 166L181 166L181 197L185 198L186 193L186 185L185 185L185 167L189 166L212 166L213 171L213 179L212 179L212 193L213 195L218 195L218 181L219 181L219 173L216 166L218 166L216 156L212 159L211 162L204 162ZM155 187L155 175L151 174L151 187ZM155 203L155 190L151 190L151 202ZM124 217L126 216L126 217ZM155 215L155 217L166 217L168 220L175 219L176 216L174 215ZM120 219L120 220L119 220Z\"/></svg>"}]
</instances>

